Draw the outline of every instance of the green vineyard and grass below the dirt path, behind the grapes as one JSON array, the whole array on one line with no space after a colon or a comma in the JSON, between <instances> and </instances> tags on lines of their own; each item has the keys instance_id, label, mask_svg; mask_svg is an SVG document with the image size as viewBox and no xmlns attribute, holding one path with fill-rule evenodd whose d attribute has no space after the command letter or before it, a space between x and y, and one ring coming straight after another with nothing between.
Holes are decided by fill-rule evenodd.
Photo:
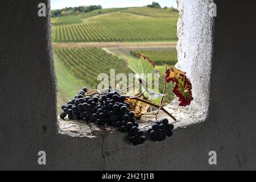
<instances>
[{"instance_id":1,"label":"green vineyard and grass below the dirt path, behind the grapes","mask_svg":"<svg viewBox=\"0 0 256 182\"><path fill-rule=\"evenodd\" d=\"M137 51L131 51L134 53ZM176 51L139 51L141 53L150 52L151 57L156 60L167 63L171 55L175 55ZM157 58L158 55L166 57ZM134 56L133 54L131 56ZM155 62L155 59L152 59ZM157 62L157 61L156 61ZM155 63L156 63L155 62ZM172 62L168 62L168 65ZM101 81L98 81L100 73L110 75L110 69L115 69L115 75L118 73L131 73L130 69L125 67L125 61L117 56L104 51L101 48L61 48L55 49L55 66L57 79L59 82L58 104L64 104L73 96L73 90L79 89L83 84L90 88L97 88ZM159 85L164 85L164 66L156 65L160 74ZM162 90L163 88L160 88ZM170 94L173 89L172 84L168 84L166 97L170 100L173 96Z\"/></svg>"}]
</instances>

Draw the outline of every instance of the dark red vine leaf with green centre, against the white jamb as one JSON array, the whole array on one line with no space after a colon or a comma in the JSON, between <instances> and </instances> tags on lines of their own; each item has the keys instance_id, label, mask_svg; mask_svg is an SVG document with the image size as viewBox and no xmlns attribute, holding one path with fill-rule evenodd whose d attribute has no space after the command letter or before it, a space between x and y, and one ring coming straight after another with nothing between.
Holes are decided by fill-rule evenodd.
<instances>
[{"instance_id":1,"label":"dark red vine leaf with green centre, against the white jamb","mask_svg":"<svg viewBox=\"0 0 256 182\"><path fill-rule=\"evenodd\" d=\"M175 80L174 94L179 97L179 106L188 106L191 104L193 100L191 89L191 82L185 75L180 75Z\"/></svg>"}]
</instances>

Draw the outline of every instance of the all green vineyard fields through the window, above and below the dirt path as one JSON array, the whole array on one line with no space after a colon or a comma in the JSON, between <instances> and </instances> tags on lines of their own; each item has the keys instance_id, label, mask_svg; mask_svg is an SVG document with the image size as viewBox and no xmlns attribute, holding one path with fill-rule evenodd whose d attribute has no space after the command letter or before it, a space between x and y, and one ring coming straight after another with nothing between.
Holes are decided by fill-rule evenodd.
<instances>
[{"instance_id":1,"label":"all green vineyard fields through the window, above and below the dirt path","mask_svg":"<svg viewBox=\"0 0 256 182\"><path fill-rule=\"evenodd\" d=\"M90 11L79 15L52 18L54 43L79 42L176 42L178 13L175 11L151 9L148 7L113 8ZM68 45L68 44L67 44ZM126 58L96 47L55 48L55 67L58 80L58 105L70 100L74 90L87 85L97 88L100 73L110 75L110 69L118 73L131 73L125 67ZM164 66L174 65L177 61L175 50L165 49L127 49L126 56L142 53L154 60L160 73L160 90L164 85ZM111 52L111 51L110 51ZM122 53L122 51L121 51ZM168 84L166 97L170 100L173 89ZM60 107L59 107L60 109ZM60 110L59 110L60 112Z\"/></svg>"}]
</instances>

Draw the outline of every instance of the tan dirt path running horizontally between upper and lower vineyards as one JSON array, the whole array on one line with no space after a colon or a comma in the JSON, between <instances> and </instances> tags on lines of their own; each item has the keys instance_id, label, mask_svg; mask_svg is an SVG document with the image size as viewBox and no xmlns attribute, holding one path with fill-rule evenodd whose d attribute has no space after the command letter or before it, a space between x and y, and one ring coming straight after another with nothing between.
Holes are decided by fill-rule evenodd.
<instances>
[{"instance_id":1,"label":"tan dirt path running horizontally between upper and lower vineyards","mask_svg":"<svg viewBox=\"0 0 256 182\"><path fill-rule=\"evenodd\" d=\"M53 43L53 48L100 47L100 48L129 48L129 47L175 47L175 42L88 42L88 43Z\"/></svg>"}]
</instances>

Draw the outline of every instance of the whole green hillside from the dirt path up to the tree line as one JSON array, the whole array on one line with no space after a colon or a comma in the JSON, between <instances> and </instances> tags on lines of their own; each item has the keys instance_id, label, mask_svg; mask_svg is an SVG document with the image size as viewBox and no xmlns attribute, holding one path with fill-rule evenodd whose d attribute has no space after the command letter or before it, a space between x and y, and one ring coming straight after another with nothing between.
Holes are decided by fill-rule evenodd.
<instances>
[{"instance_id":1,"label":"whole green hillside from the dirt path up to the tree line","mask_svg":"<svg viewBox=\"0 0 256 182\"><path fill-rule=\"evenodd\" d=\"M176 12L142 7L53 18L53 42L176 41L177 17Z\"/></svg>"}]
</instances>

